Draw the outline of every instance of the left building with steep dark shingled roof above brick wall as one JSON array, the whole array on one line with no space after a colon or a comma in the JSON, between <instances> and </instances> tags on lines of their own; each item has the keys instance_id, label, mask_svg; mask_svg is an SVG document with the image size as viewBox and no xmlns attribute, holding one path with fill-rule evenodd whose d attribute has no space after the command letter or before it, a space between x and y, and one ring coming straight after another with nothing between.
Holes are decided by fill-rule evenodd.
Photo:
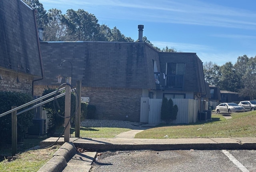
<instances>
[{"instance_id":1,"label":"left building with steep dark shingled roof above brick wall","mask_svg":"<svg viewBox=\"0 0 256 172\"><path fill-rule=\"evenodd\" d=\"M43 72L35 11L23 0L1 0L0 91L32 95Z\"/></svg>"}]
</instances>

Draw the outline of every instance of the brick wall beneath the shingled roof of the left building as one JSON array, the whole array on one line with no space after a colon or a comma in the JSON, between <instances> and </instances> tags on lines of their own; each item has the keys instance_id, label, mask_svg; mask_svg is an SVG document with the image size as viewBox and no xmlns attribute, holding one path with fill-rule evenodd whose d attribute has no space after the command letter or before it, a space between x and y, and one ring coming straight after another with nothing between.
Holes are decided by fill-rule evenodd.
<instances>
[{"instance_id":1,"label":"brick wall beneath the shingled roof of the left building","mask_svg":"<svg viewBox=\"0 0 256 172\"><path fill-rule=\"evenodd\" d=\"M23 73L0 70L0 91L12 91L32 94L33 77ZM17 76L19 83L17 82Z\"/></svg>"}]
</instances>

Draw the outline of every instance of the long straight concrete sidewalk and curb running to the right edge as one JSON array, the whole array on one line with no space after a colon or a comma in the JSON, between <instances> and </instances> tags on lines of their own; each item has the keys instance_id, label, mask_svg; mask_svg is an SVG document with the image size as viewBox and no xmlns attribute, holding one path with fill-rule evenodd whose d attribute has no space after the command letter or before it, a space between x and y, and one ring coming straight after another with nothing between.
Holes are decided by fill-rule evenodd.
<instances>
[{"instance_id":1,"label":"long straight concrete sidewalk and curb running to the right edge","mask_svg":"<svg viewBox=\"0 0 256 172\"><path fill-rule=\"evenodd\" d=\"M62 142L64 138L60 138ZM57 138L49 138L40 142L47 146L55 142ZM256 149L256 138L166 138L166 139L142 139L142 138L72 138L76 147L85 150L222 150L222 149ZM60 143L58 143L60 144Z\"/></svg>"}]
</instances>

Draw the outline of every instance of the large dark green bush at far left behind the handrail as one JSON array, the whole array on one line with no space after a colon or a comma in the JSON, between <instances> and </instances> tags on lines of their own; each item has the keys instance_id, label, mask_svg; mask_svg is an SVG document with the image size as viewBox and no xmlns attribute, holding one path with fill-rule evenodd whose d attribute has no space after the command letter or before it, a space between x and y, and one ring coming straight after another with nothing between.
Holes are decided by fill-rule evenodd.
<instances>
[{"instance_id":1,"label":"large dark green bush at far left behind the handrail","mask_svg":"<svg viewBox=\"0 0 256 172\"><path fill-rule=\"evenodd\" d=\"M7 112L12 109L12 106L21 106L33 100L31 95L18 92L0 91L0 114ZM31 105L32 106L32 105ZM31 107L30 106L30 107ZM18 112L27 109L18 110ZM17 116L17 135L18 138L24 138L28 127L33 125L32 121L34 118L33 110L27 111ZM4 142L11 142L12 140L12 115L8 114L4 117L0 117L0 144Z\"/></svg>"}]
</instances>

